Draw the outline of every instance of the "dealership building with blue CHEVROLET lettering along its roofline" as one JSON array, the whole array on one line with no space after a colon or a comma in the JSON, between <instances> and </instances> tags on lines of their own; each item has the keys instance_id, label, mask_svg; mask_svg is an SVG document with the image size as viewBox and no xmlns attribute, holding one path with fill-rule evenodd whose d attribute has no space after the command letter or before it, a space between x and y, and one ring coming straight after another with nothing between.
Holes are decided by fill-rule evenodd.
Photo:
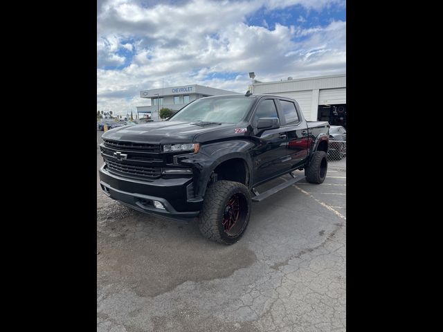
<instances>
[{"instance_id":1,"label":"dealership building with blue CHEVROLET lettering along its roofline","mask_svg":"<svg viewBox=\"0 0 443 332\"><path fill-rule=\"evenodd\" d=\"M137 107L137 113L150 114L152 120L159 121L159 110L162 107L177 111L193 100L209 97L210 95L232 95L236 92L210 88L198 84L183 86L168 86L167 88L140 91L141 98L151 100L151 106Z\"/></svg>"}]
</instances>

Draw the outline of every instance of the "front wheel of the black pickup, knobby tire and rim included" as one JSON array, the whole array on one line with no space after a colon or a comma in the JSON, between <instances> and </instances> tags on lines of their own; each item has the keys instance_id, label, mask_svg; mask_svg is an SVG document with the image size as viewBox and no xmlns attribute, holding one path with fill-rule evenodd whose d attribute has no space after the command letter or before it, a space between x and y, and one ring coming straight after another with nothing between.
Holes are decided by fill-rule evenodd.
<instances>
[{"instance_id":1,"label":"front wheel of the black pickup, knobby tire and rim included","mask_svg":"<svg viewBox=\"0 0 443 332\"><path fill-rule=\"evenodd\" d=\"M242 183L213 183L206 191L199 216L201 234L218 243L237 242L248 225L251 204L251 194Z\"/></svg>"}]
</instances>

